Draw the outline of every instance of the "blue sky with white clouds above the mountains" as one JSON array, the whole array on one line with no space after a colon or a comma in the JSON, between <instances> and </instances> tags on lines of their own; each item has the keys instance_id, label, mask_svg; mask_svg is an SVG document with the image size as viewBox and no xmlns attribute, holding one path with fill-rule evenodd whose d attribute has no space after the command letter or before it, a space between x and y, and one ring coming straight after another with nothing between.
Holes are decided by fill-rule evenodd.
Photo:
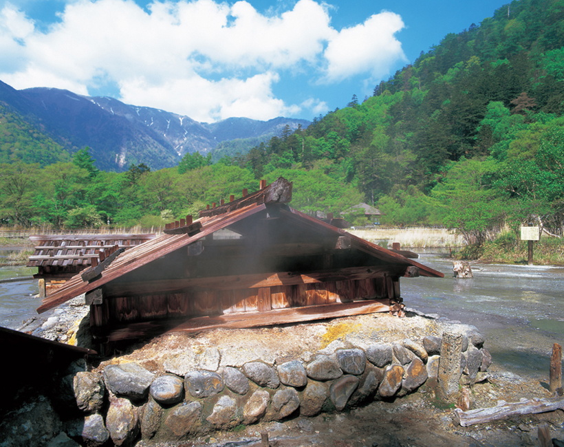
<instances>
[{"instance_id":1,"label":"blue sky with white clouds above the mountains","mask_svg":"<svg viewBox=\"0 0 564 447\"><path fill-rule=\"evenodd\" d=\"M200 122L312 120L501 0L0 0L0 80Z\"/></svg>"}]
</instances>

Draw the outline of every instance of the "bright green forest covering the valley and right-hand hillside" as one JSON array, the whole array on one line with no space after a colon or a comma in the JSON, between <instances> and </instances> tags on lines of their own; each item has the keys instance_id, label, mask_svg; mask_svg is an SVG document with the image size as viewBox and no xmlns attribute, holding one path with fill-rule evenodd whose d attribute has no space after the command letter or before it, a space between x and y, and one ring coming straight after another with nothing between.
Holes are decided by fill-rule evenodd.
<instances>
[{"instance_id":1,"label":"bright green forest covering the valley and right-hand hillside","mask_svg":"<svg viewBox=\"0 0 564 447\"><path fill-rule=\"evenodd\" d=\"M564 0L512 1L445 36L372 96L352 95L307 129L286 128L214 163L195 153L160 171L140 163L102 172L87 148L67 159L45 149L51 158L41 163L1 160L0 219L158 226L283 176L294 183L291 206L312 215L365 201L382 223L455 228L469 244L527 223L561 237L563 113ZM14 150L50 144L21 141L27 147Z\"/></svg>"}]
</instances>

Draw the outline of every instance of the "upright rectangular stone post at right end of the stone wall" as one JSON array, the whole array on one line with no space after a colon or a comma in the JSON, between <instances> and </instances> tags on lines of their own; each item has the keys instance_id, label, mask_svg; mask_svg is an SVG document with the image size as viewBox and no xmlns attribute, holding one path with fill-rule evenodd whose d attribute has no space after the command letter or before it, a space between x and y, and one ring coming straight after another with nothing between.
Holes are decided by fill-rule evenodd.
<instances>
[{"instance_id":1,"label":"upright rectangular stone post at right end of the stone wall","mask_svg":"<svg viewBox=\"0 0 564 447\"><path fill-rule=\"evenodd\" d=\"M461 356L462 334L445 332L442 336L438 379L440 394L446 400L458 394Z\"/></svg>"}]
</instances>

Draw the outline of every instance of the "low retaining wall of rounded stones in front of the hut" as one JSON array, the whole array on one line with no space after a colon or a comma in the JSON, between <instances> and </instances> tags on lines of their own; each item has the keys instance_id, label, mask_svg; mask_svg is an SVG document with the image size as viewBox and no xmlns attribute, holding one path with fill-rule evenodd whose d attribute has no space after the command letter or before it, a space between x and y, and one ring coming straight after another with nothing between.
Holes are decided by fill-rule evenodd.
<instances>
[{"instance_id":1,"label":"low retaining wall of rounded stones in front of the hut","mask_svg":"<svg viewBox=\"0 0 564 447\"><path fill-rule=\"evenodd\" d=\"M84 421L81 433L69 436L87 446L102 446L110 439L117 446L138 439L148 444L182 441L239 424L392 400L430 379L448 400L457 393L461 378L471 383L490 365L483 344L477 332L446 332L442 338L404 339L365 349L334 343L309 362L254 360L240 368L193 369L183 377L158 376L134 362L109 364L102 373L74 375L74 395Z\"/></svg>"}]
</instances>

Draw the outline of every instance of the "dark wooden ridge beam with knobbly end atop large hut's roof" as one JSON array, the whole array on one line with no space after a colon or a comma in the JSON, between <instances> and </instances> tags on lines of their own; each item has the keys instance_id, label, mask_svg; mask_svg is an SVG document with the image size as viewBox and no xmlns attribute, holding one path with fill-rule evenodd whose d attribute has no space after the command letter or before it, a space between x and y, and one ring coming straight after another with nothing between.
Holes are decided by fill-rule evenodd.
<instances>
[{"instance_id":1,"label":"dark wooden ridge beam with knobbly end atop large hut's roof","mask_svg":"<svg viewBox=\"0 0 564 447\"><path fill-rule=\"evenodd\" d=\"M212 217L237 210L250 204L287 204L292 200L292 182L284 177L278 177L274 182L249 195L230 201L227 204L199 211L202 217Z\"/></svg>"}]
</instances>

